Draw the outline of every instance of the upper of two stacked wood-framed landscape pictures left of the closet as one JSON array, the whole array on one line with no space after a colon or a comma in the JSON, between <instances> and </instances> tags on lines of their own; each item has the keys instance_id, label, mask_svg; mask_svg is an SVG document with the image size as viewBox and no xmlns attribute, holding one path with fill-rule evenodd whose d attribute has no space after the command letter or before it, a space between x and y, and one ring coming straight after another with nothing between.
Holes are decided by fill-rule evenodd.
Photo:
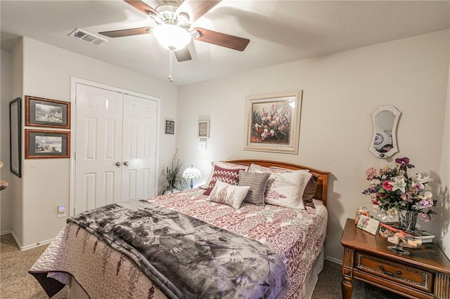
<instances>
[{"instance_id":1,"label":"upper of two stacked wood-framed landscape pictures left of the closet","mask_svg":"<svg viewBox=\"0 0 450 299\"><path fill-rule=\"evenodd\" d=\"M25 126L70 128L70 102L25 95Z\"/></svg>"}]
</instances>

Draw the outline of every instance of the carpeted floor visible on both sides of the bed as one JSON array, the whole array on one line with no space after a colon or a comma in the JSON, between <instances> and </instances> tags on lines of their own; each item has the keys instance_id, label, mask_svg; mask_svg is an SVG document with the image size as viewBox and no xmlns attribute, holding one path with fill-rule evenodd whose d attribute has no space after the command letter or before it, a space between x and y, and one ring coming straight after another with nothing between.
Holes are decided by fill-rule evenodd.
<instances>
[{"instance_id":1,"label":"carpeted floor visible on both sides of the bed","mask_svg":"<svg viewBox=\"0 0 450 299\"><path fill-rule=\"evenodd\" d=\"M1 299L41 299L48 298L31 274L30 267L44 252L46 245L20 251L11 234L1 236L0 247L0 298ZM338 299L341 297L340 265L325 261L324 269L319 274L312 299ZM53 296L56 299L67 298L67 288ZM352 298L361 299L402 299L399 295L383 291L380 288L354 280ZM103 298L100 298L103 299ZM106 298L105 298L106 299ZM109 299L109 298L108 298Z\"/></svg>"}]
</instances>

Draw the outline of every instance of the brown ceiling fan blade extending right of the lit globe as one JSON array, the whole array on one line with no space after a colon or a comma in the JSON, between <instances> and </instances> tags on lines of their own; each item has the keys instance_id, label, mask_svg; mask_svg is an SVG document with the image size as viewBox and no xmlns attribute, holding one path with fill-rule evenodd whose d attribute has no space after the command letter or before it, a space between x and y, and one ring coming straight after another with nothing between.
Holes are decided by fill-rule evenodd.
<instances>
[{"instance_id":1,"label":"brown ceiling fan blade extending right of the lit globe","mask_svg":"<svg viewBox=\"0 0 450 299\"><path fill-rule=\"evenodd\" d=\"M200 33L199 37L194 36L194 39L197 39L198 41L205 41L205 43L231 48L237 51L244 51L248 43L250 43L250 39L244 39L239 36L224 34L209 29L193 28L193 30L197 30L197 32Z\"/></svg>"}]
</instances>

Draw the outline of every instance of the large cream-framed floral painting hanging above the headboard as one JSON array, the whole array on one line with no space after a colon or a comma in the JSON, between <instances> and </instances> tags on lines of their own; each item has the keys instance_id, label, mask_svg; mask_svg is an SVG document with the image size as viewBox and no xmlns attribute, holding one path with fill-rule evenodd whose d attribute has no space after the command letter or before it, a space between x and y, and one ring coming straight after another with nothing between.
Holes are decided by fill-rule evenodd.
<instances>
[{"instance_id":1,"label":"large cream-framed floral painting hanging above the headboard","mask_svg":"<svg viewBox=\"0 0 450 299\"><path fill-rule=\"evenodd\" d=\"M302 91L247 97L244 150L297 154Z\"/></svg>"}]
</instances>

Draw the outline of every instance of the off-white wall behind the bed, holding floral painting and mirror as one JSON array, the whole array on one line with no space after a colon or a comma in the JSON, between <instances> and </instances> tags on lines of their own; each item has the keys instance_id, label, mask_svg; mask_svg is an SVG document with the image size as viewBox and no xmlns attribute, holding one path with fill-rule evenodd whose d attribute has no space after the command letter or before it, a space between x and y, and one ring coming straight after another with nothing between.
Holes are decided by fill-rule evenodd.
<instances>
[{"instance_id":1,"label":"off-white wall behind the bed, holding floral painting and mirror","mask_svg":"<svg viewBox=\"0 0 450 299\"><path fill-rule=\"evenodd\" d=\"M217 159L281 160L331 171L326 248L330 258L342 260L345 220L369 201L361 194L368 167L409 157L415 171L435 178L434 192L440 187L448 72L449 31L444 30L181 86L180 157L198 166L204 180L210 161ZM297 89L303 90L299 154L244 151L245 96ZM371 113L381 105L402 112L399 153L387 160L368 151ZM201 152L196 126L205 117L211 121L210 139ZM437 227L426 228L437 232Z\"/></svg>"}]
</instances>

